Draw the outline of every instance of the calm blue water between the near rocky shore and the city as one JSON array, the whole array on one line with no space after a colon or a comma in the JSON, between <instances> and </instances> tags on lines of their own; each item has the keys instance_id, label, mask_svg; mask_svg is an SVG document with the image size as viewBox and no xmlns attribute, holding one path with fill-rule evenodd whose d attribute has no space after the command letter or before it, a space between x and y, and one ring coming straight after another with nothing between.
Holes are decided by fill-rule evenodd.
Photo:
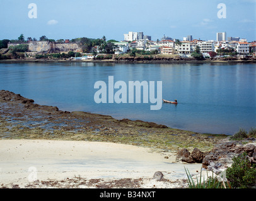
<instances>
[{"instance_id":1,"label":"calm blue water between the near rocky shore and the city","mask_svg":"<svg viewBox=\"0 0 256 201\"><path fill-rule=\"evenodd\" d=\"M162 81L163 104L96 104L94 84ZM0 63L0 89L63 111L141 119L199 133L234 134L256 127L255 64ZM115 92L118 89L115 89Z\"/></svg>"}]
</instances>

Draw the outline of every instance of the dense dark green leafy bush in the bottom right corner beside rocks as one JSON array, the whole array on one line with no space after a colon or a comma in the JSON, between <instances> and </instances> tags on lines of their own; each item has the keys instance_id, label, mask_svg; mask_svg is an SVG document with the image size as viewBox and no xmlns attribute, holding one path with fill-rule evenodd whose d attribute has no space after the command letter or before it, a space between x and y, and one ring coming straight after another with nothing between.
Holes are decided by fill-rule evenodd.
<instances>
[{"instance_id":1,"label":"dense dark green leafy bush in the bottom right corner beside rocks","mask_svg":"<svg viewBox=\"0 0 256 201\"><path fill-rule=\"evenodd\" d=\"M251 166L247 153L233 158L233 164L226 170L226 177L232 188L251 188L256 183L256 168Z\"/></svg>"}]
</instances>

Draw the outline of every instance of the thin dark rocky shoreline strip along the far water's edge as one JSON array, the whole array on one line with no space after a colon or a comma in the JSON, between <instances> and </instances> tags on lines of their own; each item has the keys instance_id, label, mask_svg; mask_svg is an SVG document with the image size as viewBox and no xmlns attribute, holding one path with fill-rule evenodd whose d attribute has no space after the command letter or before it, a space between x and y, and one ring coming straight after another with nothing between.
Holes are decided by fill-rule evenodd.
<instances>
[{"instance_id":1,"label":"thin dark rocky shoreline strip along the far water's edge","mask_svg":"<svg viewBox=\"0 0 256 201\"><path fill-rule=\"evenodd\" d=\"M0 60L0 63L47 63L47 62L74 62L74 63L256 63L256 60L69 60L69 59L10 59Z\"/></svg>"}]
</instances>

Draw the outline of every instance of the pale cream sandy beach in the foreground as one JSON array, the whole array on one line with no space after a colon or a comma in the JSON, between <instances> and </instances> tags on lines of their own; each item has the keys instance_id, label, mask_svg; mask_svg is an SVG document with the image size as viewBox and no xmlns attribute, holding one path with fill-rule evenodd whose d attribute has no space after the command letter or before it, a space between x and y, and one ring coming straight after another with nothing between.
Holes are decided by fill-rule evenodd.
<instances>
[{"instance_id":1,"label":"pale cream sandy beach in the foreground","mask_svg":"<svg viewBox=\"0 0 256 201\"><path fill-rule=\"evenodd\" d=\"M0 161L0 185L20 188L47 187L38 183L47 180L66 180L57 188L95 188L125 178L139 180L141 188L178 188L186 185L184 167L197 174L202 165L175 163L174 155L165 158L163 153L127 144L41 139L1 140ZM165 180L153 179L156 171ZM78 177L88 184L70 181Z\"/></svg>"}]
</instances>

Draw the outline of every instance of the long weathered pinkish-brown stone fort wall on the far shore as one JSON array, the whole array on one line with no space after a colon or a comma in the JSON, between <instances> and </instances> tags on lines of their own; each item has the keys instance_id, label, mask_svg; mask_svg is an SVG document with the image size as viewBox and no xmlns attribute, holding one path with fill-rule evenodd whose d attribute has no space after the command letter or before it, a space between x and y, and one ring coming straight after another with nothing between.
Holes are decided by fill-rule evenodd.
<instances>
[{"instance_id":1,"label":"long weathered pinkish-brown stone fort wall on the far shore","mask_svg":"<svg viewBox=\"0 0 256 201\"><path fill-rule=\"evenodd\" d=\"M37 53L83 52L79 43L55 43L52 41L30 41L28 50Z\"/></svg>"}]
</instances>

